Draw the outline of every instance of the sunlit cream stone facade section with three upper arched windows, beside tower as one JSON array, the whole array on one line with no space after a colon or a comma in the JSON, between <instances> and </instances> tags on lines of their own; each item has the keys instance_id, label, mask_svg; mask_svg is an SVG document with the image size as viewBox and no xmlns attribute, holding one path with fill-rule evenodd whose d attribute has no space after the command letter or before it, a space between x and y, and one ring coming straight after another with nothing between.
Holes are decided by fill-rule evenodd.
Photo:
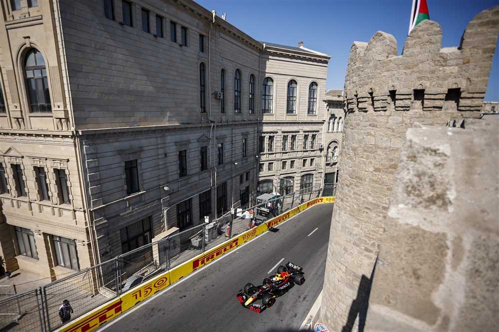
<instances>
[{"instance_id":1,"label":"sunlit cream stone facade section with three upper arched windows, beside tower","mask_svg":"<svg viewBox=\"0 0 499 332\"><path fill-rule=\"evenodd\" d=\"M322 182L330 57L302 42L298 47L264 43L263 49L262 95L267 101L259 127L258 194L287 195Z\"/></svg>"}]
</instances>

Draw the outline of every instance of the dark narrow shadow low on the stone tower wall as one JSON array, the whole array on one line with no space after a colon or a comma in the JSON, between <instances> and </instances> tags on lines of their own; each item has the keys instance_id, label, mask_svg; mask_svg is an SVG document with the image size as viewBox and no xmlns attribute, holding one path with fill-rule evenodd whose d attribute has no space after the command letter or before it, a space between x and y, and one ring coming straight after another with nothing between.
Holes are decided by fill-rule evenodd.
<instances>
[{"instance_id":1,"label":"dark narrow shadow low on the stone tower wall","mask_svg":"<svg viewBox=\"0 0 499 332\"><path fill-rule=\"evenodd\" d=\"M365 275L362 275L362 277L360 278L357 297L352 301L350 311L348 312L347 322L341 329L341 332L351 332L357 317L359 318L359 332L364 331L364 326L366 324L367 318L367 309L369 308L369 295L371 294L371 285L374 278L374 271L376 270L377 261L378 258L376 258L376 262L374 263L374 267L371 272L371 278L368 278Z\"/></svg>"}]
</instances>

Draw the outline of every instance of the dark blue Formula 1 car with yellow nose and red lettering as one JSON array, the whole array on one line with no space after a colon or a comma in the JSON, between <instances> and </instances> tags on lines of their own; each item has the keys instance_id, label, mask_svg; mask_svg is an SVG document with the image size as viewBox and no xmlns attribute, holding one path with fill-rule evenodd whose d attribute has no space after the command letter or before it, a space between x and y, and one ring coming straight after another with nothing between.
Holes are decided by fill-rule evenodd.
<instances>
[{"instance_id":1,"label":"dark blue Formula 1 car with yellow nose and red lettering","mask_svg":"<svg viewBox=\"0 0 499 332\"><path fill-rule=\"evenodd\" d=\"M284 295L294 284L303 285L305 277L303 269L298 265L288 262L286 266L280 265L277 273L263 279L260 286L256 287L252 283L239 291L238 300L243 307L257 313L261 313L270 308L275 303L275 298ZM255 303L258 299L262 300L262 305Z\"/></svg>"}]
</instances>

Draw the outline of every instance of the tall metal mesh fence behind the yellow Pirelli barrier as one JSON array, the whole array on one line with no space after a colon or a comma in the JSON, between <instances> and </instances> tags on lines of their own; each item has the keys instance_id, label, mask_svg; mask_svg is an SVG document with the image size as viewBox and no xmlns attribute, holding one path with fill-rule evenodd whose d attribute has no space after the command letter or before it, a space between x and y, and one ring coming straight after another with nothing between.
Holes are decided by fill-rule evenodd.
<instances>
[{"instance_id":1,"label":"tall metal mesh fence behind the yellow Pirelli barrier","mask_svg":"<svg viewBox=\"0 0 499 332\"><path fill-rule=\"evenodd\" d=\"M38 289L0 300L0 332L54 331L63 324L58 309L68 299L74 310L71 319L85 315L119 297L129 289L237 236L250 228L250 211L264 208L268 219L319 196L334 196L336 184L309 187L237 210L208 224L194 226L144 245L111 260L75 272ZM228 228L230 226L230 228Z\"/></svg>"}]
</instances>

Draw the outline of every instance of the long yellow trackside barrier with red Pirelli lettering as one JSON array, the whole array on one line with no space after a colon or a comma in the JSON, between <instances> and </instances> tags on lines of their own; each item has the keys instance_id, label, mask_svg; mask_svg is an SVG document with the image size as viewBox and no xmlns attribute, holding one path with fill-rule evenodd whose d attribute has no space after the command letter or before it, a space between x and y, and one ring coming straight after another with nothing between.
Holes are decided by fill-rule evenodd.
<instances>
[{"instance_id":1,"label":"long yellow trackside barrier with red Pirelli lettering","mask_svg":"<svg viewBox=\"0 0 499 332\"><path fill-rule=\"evenodd\" d=\"M144 301L155 293L161 291L172 283L180 280L206 264L211 263L218 257L225 253L237 248L245 242L250 241L259 234L267 231L268 229L278 225L279 223L288 220L289 218L297 215L298 213L321 203L334 203L334 197L320 197L311 201L305 202L294 209L286 211L285 213L272 218L264 223L253 227L237 237L218 245L214 249L204 252L185 263L176 266L170 271L167 271L158 277L151 279L121 295L119 298L114 299L90 312L86 315L79 317L59 330L58 332L87 332L98 328L105 322L112 320L118 315L124 313L128 309L135 306L137 303Z\"/></svg>"}]
</instances>

